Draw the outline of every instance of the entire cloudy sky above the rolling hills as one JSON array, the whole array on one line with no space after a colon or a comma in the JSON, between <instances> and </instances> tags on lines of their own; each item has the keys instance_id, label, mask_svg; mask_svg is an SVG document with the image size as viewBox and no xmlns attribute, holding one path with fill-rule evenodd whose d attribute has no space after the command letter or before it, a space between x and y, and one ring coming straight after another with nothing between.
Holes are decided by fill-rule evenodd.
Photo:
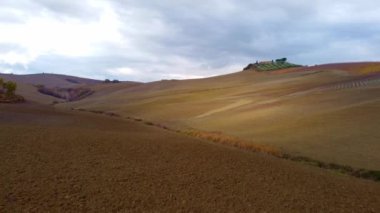
<instances>
[{"instance_id":1,"label":"entire cloudy sky above the rolling hills","mask_svg":"<svg viewBox=\"0 0 380 213\"><path fill-rule=\"evenodd\" d=\"M379 61L376 0L0 0L0 72L149 82Z\"/></svg>"}]
</instances>

